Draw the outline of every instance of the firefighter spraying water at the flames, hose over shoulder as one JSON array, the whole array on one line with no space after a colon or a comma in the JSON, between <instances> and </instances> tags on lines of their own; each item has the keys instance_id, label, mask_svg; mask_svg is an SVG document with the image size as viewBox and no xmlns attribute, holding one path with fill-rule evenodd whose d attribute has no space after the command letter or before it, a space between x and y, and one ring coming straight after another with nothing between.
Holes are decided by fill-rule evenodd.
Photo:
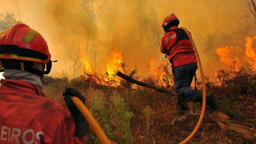
<instances>
[{"instance_id":1,"label":"firefighter spraying water at the flames, hose over shoulder","mask_svg":"<svg viewBox=\"0 0 256 144\"><path fill-rule=\"evenodd\" d=\"M171 63L174 89L178 95L177 110L183 113L187 109L187 102L202 102L203 95L190 87L198 68L197 58L188 35L178 28L179 23L174 14L164 18L162 27L165 34L161 38L160 50ZM212 110L217 109L212 93L207 93L206 105Z\"/></svg>"}]
</instances>

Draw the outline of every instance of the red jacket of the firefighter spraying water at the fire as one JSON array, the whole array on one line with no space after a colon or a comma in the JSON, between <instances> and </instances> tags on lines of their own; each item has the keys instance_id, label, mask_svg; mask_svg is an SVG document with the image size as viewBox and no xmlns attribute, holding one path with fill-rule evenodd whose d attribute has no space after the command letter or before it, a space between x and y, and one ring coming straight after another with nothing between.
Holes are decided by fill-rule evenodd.
<instances>
[{"instance_id":1,"label":"red jacket of the firefighter spraying water at the fire","mask_svg":"<svg viewBox=\"0 0 256 144\"><path fill-rule=\"evenodd\" d=\"M170 30L176 30L177 26L172 26ZM166 54L167 51L170 49L170 47L176 42L176 32L170 31L167 32L161 39L161 52ZM194 53L193 45L189 39L181 39L178 41L178 43L171 49L170 55L169 55L169 61L172 64L172 66L181 66L185 64L191 64L197 62L196 55L190 54L190 55L181 55L180 57L177 57L174 62L172 62L172 59L175 57L175 55L180 53Z\"/></svg>"}]
</instances>

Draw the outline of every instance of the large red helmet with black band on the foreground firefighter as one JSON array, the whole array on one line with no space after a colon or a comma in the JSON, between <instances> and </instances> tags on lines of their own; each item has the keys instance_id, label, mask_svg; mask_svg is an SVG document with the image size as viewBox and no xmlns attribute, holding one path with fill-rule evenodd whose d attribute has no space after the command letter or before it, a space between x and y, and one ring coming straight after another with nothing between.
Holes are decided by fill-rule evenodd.
<instances>
[{"instance_id":1,"label":"large red helmet with black band on the foreground firefighter","mask_svg":"<svg viewBox=\"0 0 256 144\"><path fill-rule=\"evenodd\" d=\"M51 58L45 39L29 26L18 23L0 35L0 59L48 64Z\"/></svg>"}]
</instances>

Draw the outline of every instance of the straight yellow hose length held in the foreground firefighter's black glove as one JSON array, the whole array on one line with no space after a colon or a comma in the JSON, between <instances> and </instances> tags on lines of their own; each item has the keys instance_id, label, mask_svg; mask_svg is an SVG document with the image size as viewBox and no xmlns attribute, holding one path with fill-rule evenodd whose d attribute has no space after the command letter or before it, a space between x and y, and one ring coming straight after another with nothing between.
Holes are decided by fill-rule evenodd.
<instances>
[{"instance_id":1,"label":"straight yellow hose length held in the foreground firefighter's black glove","mask_svg":"<svg viewBox=\"0 0 256 144\"><path fill-rule=\"evenodd\" d=\"M101 144L117 144L107 138L106 134L103 132L94 116L92 116L91 112L78 97L71 96L71 100L75 103L76 107L78 107L79 111L85 117L86 121L89 123L90 131L97 136Z\"/></svg>"}]
</instances>

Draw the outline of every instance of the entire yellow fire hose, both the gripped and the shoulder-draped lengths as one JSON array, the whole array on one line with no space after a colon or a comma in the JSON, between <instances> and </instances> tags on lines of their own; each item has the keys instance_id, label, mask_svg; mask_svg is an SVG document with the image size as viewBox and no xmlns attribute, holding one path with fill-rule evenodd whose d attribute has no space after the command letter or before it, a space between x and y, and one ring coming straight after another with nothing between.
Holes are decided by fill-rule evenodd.
<instances>
[{"instance_id":1,"label":"entire yellow fire hose, both the gripped and the shoulder-draped lengths","mask_svg":"<svg viewBox=\"0 0 256 144\"><path fill-rule=\"evenodd\" d=\"M200 70L200 74L201 74L201 78L202 78L202 88L203 88L203 104L202 104L202 110L201 110L201 114L200 114L199 120L197 122L197 125L194 128L194 130L191 132L191 134L188 135L188 137L180 143L180 144L186 144L196 134L197 130L199 129L199 127L203 121L204 112L205 112L205 108L206 108L206 85L205 85L205 81L204 81L204 74L203 74L201 60L199 58L199 54L198 54L196 45L194 44L194 41L192 39L192 36L191 36L190 32L187 31L186 28L184 28L184 27L180 27L180 28L187 33L187 35L190 38L190 41L193 45L194 51L197 56L197 62L198 62L198 66L199 66L199 70ZM117 144L107 138L106 134L103 132L103 130L101 129L100 125L98 124L98 122L96 121L94 116L92 116L91 112L88 110L88 108L84 105L84 103L82 103L82 101L78 97L71 96L71 100L75 103L76 107L78 107L78 109L81 111L81 113L85 117L86 121L89 123L90 131L97 136L97 138L99 139L101 144Z\"/></svg>"}]
</instances>

